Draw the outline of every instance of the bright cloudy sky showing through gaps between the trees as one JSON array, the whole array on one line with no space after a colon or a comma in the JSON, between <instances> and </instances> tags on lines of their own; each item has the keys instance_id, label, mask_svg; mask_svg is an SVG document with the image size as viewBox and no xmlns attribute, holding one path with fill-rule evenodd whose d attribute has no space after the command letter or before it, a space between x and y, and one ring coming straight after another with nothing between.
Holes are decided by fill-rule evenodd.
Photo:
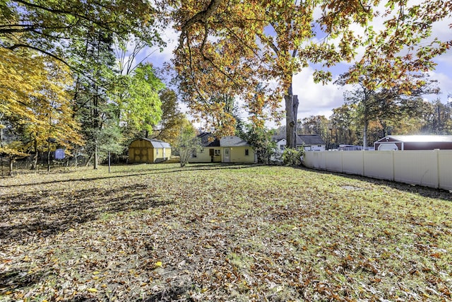
<instances>
[{"instance_id":1,"label":"bright cloudy sky showing through gaps between the trees","mask_svg":"<svg viewBox=\"0 0 452 302\"><path fill-rule=\"evenodd\" d=\"M416 1L416 0L415 0ZM452 29L449 24L452 23L452 19L441 21L440 23L434 25L432 37L439 37L442 40L450 39L452 35ZM378 24L376 27L379 26ZM167 42L167 47L162 52L155 52L155 50L148 49L145 52L153 52L149 57L149 62L153 63L155 66L161 66L164 62L169 62L172 59L172 52L177 45L177 39L179 38L179 33L174 32L171 28L165 30L162 38ZM359 57L359 51L357 57ZM435 62L437 63L436 69L429 72L430 79L437 80L439 83L439 88L441 88L440 95L426 95L426 100L435 100L440 98L441 102L447 103L452 101L448 99L448 95L452 95L452 50L446 52L439 57L436 57ZM313 72L314 68L309 66L304 69L299 74L296 74L293 78L293 92L298 95L299 108L298 115L299 119L304 117L309 117L311 115L324 115L329 118L332 115L333 108L338 108L344 104L343 93L350 89L350 86L340 87L334 85L335 79L343 72L347 71L349 64L340 63L331 69L333 72L333 81L323 85L322 83L314 83ZM182 111L186 112L185 106L181 105ZM281 110L284 109L283 99L281 100ZM270 122L270 127L274 124Z\"/></svg>"}]
</instances>

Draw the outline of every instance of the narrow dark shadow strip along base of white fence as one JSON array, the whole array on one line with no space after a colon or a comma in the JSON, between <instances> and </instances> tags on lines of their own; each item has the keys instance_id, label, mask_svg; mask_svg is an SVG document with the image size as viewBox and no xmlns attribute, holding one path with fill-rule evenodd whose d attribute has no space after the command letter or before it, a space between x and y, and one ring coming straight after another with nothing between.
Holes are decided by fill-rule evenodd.
<instances>
[{"instance_id":1,"label":"narrow dark shadow strip along base of white fence","mask_svg":"<svg viewBox=\"0 0 452 302\"><path fill-rule=\"evenodd\" d=\"M294 167L294 168L301 169L301 170L307 170L307 171L311 171L311 172L316 172L316 173L320 173L320 174L325 174L325 175L339 175L339 176L342 176L343 178L350 178L353 180L362 180L365 182L370 182L374 185L385 185L387 187L391 187L393 189L400 190L403 192L419 194L422 197L442 199L442 200L446 200L448 202L452 202L451 192L448 192L448 191L442 190L442 189L435 189L433 187L422 187L420 185L409 185L409 184L406 184L403 182L394 182L391 180L379 180L376 178L368 178L368 177L365 177L362 175L338 173L338 172L326 171L326 170L316 170L316 169L311 169L311 168L306 168L306 167Z\"/></svg>"}]
</instances>

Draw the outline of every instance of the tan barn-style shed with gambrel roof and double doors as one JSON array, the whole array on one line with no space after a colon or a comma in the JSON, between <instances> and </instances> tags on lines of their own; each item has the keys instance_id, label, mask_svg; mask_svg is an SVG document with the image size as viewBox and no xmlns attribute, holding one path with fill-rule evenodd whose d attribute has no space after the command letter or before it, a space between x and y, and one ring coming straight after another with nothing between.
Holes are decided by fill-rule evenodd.
<instances>
[{"instance_id":1,"label":"tan barn-style shed with gambrel roof and double doors","mask_svg":"<svg viewBox=\"0 0 452 302\"><path fill-rule=\"evenodd\" d=\"M129 145L129 163L160 163L171 156L171 146L159 139L136 139Z\"/></svg>"}]
</instances>

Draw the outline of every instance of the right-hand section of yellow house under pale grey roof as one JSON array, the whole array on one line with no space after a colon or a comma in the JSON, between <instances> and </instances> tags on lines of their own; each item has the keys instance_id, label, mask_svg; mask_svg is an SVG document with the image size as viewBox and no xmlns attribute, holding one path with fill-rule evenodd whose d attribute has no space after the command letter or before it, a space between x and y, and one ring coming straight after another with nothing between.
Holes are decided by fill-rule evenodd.
<instances>
[{"instance_id":1,"label":"right-hand section of yellow house under pale grey roof","mask_svg":"<svg viewBox=\"0 0 452 302\"><path fill-rule=\"evenodd\" d=\"M222 163L257 163L257 154L248 143L239 137L222 137L220 139Z\"/></svg>"}]
</instances>

